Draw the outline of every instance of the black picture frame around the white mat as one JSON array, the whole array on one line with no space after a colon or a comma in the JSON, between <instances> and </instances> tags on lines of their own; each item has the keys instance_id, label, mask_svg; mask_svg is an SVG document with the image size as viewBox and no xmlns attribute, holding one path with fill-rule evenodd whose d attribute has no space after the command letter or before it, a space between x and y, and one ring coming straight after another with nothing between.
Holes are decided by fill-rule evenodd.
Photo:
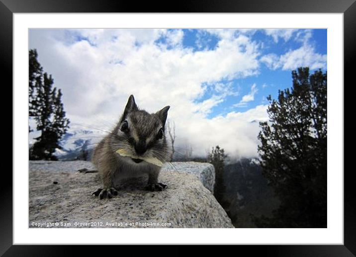
<instances>
[{"instance_id":1,"label":"black picture frame around the white mat","mask_svg":"<svg viewBox=\"0 0 356 257\"><path fill-rule=\"evenodd\" d=\"M346 101L352 94L345 94L345 84L352 81L352 67L356 60L356 3L355 0L195 0L171 4L141 1L139 4L122 0L0 0L0 60L2 77L12 85L12 29L13 13L41 12L287 12L287 13L344 13L344 118L353 117ZM343 86L343 85L341 85ZM10 88L10 87L7 87ZM347 92L351 89L347 89ZM12 94L12 90L11 90ZM349 114L349 115L347 115ZM12 115L11 115L12 119ZM9 120L8 120L9 121ZM12 123L11 123L12 124ZM13 128L12 128L13 131ZM355 140L351 129L345 129L348 144ZM12 134L12 137L14 134ZM345 145L344 145L345 148ZM9 151L8 151L9 152ZM12 153L12 151L11 151ZM16 154L16 153L13 153ZM353 151L344 150L344 164L350 163ZM346 167L346 166L345 166ZM355 256L356 255L356 201L352 169L344 169L344 245L300 246L239 246L254 255L263 251L271 256ZM26 171L24 171L25 174ZM26 176L26 175L24 175ZM63 256L70 246L14 246L12 245L12 174L2 171L0 187L0 255L3 256ZM6 183L4 183L6 182ZM55 248L55 249L54 249ZM88 248L87 248L88 249ZM131 251L131 250L129 250ZM137 250L135 250L137 251ZM147 250L145 250L147 251ZM234 250L236 251L236 250ZM239 251L239 250L237 250ZM146 252L145 252L146 253ZM173 251L179 255L179 250ZM139 255L139 252L135 252Z\"/></svg>"}]
</instances>

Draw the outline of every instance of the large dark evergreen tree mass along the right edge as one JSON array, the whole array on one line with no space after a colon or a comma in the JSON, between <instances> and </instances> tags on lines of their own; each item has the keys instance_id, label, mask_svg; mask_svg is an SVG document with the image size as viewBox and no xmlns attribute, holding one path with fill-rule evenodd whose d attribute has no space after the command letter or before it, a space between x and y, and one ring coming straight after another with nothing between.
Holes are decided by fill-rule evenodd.
<instances>
[{"instance_id":1,"label":"large dark evergreen tree mass along the right edge","mask_svg":"<svg viewBox=\"0 0 356 257\"><path fill-rule=\"evenodd\" d=\"M293 86L268 96L269 122L260 123L263 175L281 204L260 227L327 226L327 73L292 71Z\"/></svg>"}]
</instances>

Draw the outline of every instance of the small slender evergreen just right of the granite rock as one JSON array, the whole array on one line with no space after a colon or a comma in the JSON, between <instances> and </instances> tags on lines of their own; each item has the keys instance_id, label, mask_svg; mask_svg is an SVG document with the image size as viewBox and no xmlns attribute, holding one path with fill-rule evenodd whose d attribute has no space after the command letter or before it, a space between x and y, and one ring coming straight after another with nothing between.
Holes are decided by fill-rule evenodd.
<instances>
[{"instance_id":1,"label":"small slender evergreen just right of the granite rock","mask_svg":"<svg viewBox=\"0 0 356 257\"><path fill-rule=\"evenodd\" d=\"M225 193L224 186L224 160L227 155L224 152L223 148L220 146L212 147L211 152L208 154L208 162L214 166L215 169L215 186L214 186L214 196L223 205L223 196Z\"/></svg>"}]
</instances>

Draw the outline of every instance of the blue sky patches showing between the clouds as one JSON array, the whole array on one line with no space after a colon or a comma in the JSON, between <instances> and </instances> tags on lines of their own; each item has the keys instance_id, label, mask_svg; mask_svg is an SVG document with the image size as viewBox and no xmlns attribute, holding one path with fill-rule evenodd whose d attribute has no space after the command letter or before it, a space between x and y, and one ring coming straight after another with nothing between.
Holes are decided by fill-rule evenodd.
<instances>
[{"instance_id":1,"label":"blue sky patches showing between the clouds","mask_svg":"<svg viewBox=\"0 0 356 257\"><path fill-rule=\"evenodd\" d=\"M299 30L299 32L304 32L305 30ZM315 52L321 55L327 54L327 30L326 29L312 29L308 30L312 34L310 39L311 44L315 47ZM303 46L303 42L297 40L298 31L294 32L290 39L278 39L276 42L273 37L266 35L264 30L257 30L252 35L252 39L257 42L262 42L264 48L262 55L275 54L281 56L290 50L298 49ZM160 39L162 40L162 39ZM197 40L201 40L202 45L197 44ZM216 35L210 33L200 33L199 30L186 30L184 31L184 37L182 45L184 48L192 48L193 51L200 51L202 49L214 50L216 49L219 42L219 38ZM326 70L321 67L322 70ZM315 70L315 69L314 69ZM313 70L312 70L313 71ZM272 98L277 97L278 90L283 90L287 87L291 87L291 70L282 69L270 69L266 65L261 65L259 74L254 76L249 76L246 78L231 79L231 80L221 80L220 83L233 85L233 88L239 92L237 96L227 96L226 100L221 104L214 106L211 109L211 113L208 114L208 118L213 118L218 115L226 115L232 110L244 111L250 108L255 108L258 105L266 104L266 97L271 95ZM254 100L248 102L248 104L234 106L239 103L243 96L251 93L252 85L256 84L256 93L254 94ZM212 88L208 88L204 96L197 99L197 102L202 102L210 98L214 93L216 93Z\"/></svg>"}]
</instances>

